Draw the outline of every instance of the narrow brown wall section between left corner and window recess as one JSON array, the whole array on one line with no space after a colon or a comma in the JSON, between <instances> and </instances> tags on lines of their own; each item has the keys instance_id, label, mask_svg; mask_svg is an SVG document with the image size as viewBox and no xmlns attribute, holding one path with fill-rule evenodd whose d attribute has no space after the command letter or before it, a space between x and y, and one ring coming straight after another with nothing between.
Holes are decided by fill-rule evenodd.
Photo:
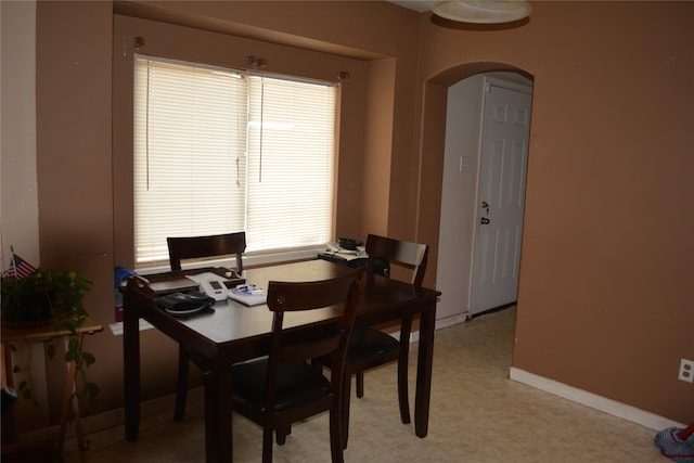
<instances>
[{"instance_id":1,"label":"narrow brown wall section between left corner and window recess","mask_svg":"<svg viewBox=\"0 0 694 463\"><path fill-rule=\"evenodd\" d=\"M105 323L113 320L111 5L85 3L63 12L60 4L39 3L36 16L41 266L88 275L94 291L87 307ZM105 403L121 395L123 356L114 340L104 332L85 342L101 360L91 370ZM63 371L52 365L54 384L63 384ZM49 387L53 421L61 388Z\"/></svg>"}]
</instances>

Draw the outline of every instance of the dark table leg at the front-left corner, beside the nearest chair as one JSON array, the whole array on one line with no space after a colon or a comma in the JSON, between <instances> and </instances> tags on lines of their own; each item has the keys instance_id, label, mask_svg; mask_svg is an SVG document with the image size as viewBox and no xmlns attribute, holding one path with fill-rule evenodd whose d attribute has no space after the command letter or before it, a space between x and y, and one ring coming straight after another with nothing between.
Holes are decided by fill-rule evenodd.
<instances>
[{"instance_id":1,"label":"dark table leg at the front-left corner, beside the nearest chair","mask_svg":"<svg viewBox=\"0 0 694 463\"><path fill-rule=\"evenodd\" d=\"M205 461L232 462L231 363L213 359L205 385Z\"/></svg>"}]
</instances>

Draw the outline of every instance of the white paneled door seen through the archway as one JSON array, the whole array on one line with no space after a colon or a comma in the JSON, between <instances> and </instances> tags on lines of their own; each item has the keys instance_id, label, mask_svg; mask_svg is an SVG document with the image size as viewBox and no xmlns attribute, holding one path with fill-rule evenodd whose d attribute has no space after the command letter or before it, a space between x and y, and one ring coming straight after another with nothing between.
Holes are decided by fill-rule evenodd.
<instances>
[{"instance_id":1,"label":"white paneled door seen through the archway","mask_svg":"<svg viewBox=\"0 0 694 463\"><path fill-rule=\"evenodd\" d=\"M471 314L516 300L532 95L487 82Z\"/></svg>"}]
</instances>

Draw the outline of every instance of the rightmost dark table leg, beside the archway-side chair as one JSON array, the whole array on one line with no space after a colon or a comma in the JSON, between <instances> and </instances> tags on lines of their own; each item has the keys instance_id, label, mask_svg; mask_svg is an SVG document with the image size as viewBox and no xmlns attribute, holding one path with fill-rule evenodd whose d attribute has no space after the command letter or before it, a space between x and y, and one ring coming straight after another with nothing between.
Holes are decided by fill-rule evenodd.
<instances>
[{"instance_id":1,"label":"rightmost dark table leg, beside the archway-side chair","mask_svg":"<svg viewBox=\"0 0 694 463\"><path fill-rule=\"evenodd\" d=\"M429 427L436 300L428 304L429 307L422 312L420 318L420 350L416 365L416 396L414 398L414 432L419 437L426 437Z\"/></svg>"}]
</instances>

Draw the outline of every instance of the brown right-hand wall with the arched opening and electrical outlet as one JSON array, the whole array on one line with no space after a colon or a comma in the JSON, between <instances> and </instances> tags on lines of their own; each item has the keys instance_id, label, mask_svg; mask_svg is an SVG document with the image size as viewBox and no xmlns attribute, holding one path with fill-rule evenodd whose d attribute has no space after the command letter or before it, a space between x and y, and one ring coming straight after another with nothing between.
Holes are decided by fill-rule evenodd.
<instances>
[{"instance_id":1,"label":"brown right-hand wall with the arched opening and electrical outlet","mask_svg":"<svg viewBox=\"0 0 694 463\"><path fill-rule=\"evenodd\" d=\"M694 387L677 380L680 358L694 357L692 21L692 2L537 2L528 24L506 30L422 18L421 70L439 98L440 82L479 63L535 79L514 366L684 423L694 421ZM442 134L430 114L444 107L425 101L434 159ZM440 189L435 173L423 171L424 191Z\"/></svg>"}]
</instances>

